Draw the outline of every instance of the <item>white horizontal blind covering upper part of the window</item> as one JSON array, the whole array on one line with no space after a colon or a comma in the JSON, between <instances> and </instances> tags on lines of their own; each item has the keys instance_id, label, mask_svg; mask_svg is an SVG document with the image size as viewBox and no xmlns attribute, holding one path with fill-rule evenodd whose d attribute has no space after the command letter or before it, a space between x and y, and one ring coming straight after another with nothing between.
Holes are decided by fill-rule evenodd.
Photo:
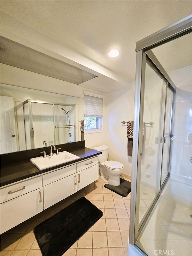
<instances>
[{"instance_id":1,"label":"white horizontal blind covering upper part of the window","mask_svg":"<svg viewBox=\"0 0 192 256\"><path fill-rule=\"evenodd\" d=\"M103 117L103 99L84 95L84 115Z\"/></svg>"}]
</instances>

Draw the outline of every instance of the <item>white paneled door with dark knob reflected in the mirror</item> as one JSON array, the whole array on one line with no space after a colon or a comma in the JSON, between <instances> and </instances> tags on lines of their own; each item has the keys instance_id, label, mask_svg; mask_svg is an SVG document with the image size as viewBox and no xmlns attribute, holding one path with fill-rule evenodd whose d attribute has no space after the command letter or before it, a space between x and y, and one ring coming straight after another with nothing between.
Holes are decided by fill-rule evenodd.
<instances>
[{"instance_id":1,"label":"white paneled door with dark knob reflected in the mirror","mask_svg":"<svg viewBox=\"0 0 192 256\"><path fill-rule=\"evenodd\" d=\"M13 97L1 96L1 154L17 151Z\"/></svg>"}]
</instances>

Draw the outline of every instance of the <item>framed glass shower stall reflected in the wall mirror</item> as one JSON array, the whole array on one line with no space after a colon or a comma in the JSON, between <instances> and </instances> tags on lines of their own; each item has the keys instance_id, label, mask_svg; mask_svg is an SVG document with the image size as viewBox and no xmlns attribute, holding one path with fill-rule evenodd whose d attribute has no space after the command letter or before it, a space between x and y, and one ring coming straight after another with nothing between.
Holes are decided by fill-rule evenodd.
<instances>
[{"instance_id":1,"label":"framed glass shower stall reflected in the wall mirror","mask_svg":"<svg viewBox=\"0 0 192 256\"><path fill-rule=\"evenodd\" d=\"M46 101L23 102L26 149L75 141L75 105Z\"/></svg>"}]
</instances>

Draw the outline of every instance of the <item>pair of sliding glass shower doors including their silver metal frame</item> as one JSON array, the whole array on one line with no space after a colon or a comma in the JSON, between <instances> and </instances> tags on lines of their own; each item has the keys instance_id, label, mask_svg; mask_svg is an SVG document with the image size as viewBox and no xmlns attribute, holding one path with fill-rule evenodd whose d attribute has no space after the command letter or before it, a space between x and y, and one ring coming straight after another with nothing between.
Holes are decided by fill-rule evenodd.
<instances>
[{"instance_id":1,"label":"pair of sliding glass shower doors including their silver metal frame","mask_svg":"<svg viewBox=\"0 0 192 256\"><path fill-rule=\"evenodd\" d=\"M137 177L133 177L133 182L136 178L137 187L132 200L136 200L134 243L139 246L138 237L169 176L174 87L152 51L140 52L137 57L142 61L137 81L141 87L136 91L136 103L137 97L140 101L134 110L134 123L137 124L134 134L138 132L139 136L134 137L133 143L133 152L137 154L137 161L134 159Z\"/></svg>"}]
</instances>

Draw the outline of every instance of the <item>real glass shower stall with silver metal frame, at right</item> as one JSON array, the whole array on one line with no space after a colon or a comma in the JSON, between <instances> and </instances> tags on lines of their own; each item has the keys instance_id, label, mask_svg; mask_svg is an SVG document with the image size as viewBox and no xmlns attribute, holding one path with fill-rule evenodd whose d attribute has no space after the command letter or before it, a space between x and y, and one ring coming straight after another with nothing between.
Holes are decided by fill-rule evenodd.
<instances>
[{"instance_id":1,"label":"real glass shower stall with silver metal frame, at right","mask_svg":"<svg viewBox=\"0 0 192 256\"><path fill-rule=\"evenodd\" d=\"M192 255L192 61L168 74L154 54L191 32L190 15L136 43L129 256Z\"/></svg>"}]
</instances>

